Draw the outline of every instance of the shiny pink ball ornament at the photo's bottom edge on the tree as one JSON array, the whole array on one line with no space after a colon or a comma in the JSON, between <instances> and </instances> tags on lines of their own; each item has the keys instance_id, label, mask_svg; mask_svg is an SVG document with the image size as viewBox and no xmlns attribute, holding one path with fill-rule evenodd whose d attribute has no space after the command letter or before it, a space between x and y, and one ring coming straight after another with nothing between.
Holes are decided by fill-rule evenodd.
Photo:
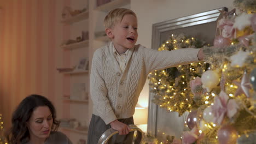
<instances>
[{"instance_id":1,"label":"shiny pink ball ornament at the photo's bottom edge on the tree","mask_svg":"<svg viewBox=\"0 0 256 144\"><path fill-rule=\"evenodd\" d=\"M237 131L231 125L223 125L217 132L219 144L235 144Z\"/></svg>"}]
</instances>

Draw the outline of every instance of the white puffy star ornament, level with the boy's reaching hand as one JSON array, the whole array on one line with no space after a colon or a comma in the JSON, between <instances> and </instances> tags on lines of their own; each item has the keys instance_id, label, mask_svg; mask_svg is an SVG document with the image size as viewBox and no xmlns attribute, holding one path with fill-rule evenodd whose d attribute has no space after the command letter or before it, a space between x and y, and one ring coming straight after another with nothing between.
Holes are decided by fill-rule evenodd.
<instances>
[{"instance_id":1,"label":"white puffy star ornament, level with the boy's reaching hand","mask_svg":"<svg viewBox=\"0 0 256 144\"><path fill-rule=\"evenodd\" d=\"M247 56L249 55L248 51L238 51L235 55L230 57L231 66L232 67L243 67L243 63L245 63Z\"/></svg>"}]
</instances>

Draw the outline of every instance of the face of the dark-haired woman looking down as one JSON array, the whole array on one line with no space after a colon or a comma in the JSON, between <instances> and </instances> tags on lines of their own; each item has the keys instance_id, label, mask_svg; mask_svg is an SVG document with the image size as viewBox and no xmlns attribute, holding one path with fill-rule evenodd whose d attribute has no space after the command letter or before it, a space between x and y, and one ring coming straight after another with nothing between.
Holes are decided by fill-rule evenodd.
<instances>
[{"instance_id":1,"label":"face of the dark-haired woman looking down","mask_svg":"<svg viewBox=\"0 0 256 144\"><path fill-rule=\"evenodd\" d=\"M45 140L51 131L53 125L53 115L48 106L38 106L32 113L27 122L30 132L30 139Z\"/></svg>"}]
</instances>

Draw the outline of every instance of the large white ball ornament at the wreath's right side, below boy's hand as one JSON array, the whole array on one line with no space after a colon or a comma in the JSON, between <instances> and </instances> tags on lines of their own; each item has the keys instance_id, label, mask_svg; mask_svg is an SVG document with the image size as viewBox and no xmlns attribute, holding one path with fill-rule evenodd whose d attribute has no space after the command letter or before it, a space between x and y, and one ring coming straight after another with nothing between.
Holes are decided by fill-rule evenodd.
<instances>
[{"instance_id":1,"label":"large white ball ornament at the wreath's right side, below boy's hand","mask_svg":"<svg viewBox=\"0 0 256 144\"><path fill-rule=\"evenodd\" d=\"M202 74L202 87L206 88L207 92L211 92L212 88L216 87L219 83L219 75L216 71L207 70Z\"/></svg>"}]
</instances>

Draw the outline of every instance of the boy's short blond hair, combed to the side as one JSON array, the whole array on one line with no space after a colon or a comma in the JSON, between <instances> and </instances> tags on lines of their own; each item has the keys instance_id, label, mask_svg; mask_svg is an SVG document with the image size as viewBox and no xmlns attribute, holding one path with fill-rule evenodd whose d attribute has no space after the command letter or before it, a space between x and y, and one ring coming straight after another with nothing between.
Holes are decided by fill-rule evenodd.
<instances>
[{"instance_id":1,"label":"boy's short blond hair, combed to the side","mask_svg":"<svg viewBox=\"0 0 256 144\"><path fill-rule=\"evenodd\" d=\"M109 13L104 19L105 28L113 28L115 23L122 21L123 17L127 14L131 14L137 18L136 14L130 9L117 8L109 11Z\"/></svg>"}]
</instances>

